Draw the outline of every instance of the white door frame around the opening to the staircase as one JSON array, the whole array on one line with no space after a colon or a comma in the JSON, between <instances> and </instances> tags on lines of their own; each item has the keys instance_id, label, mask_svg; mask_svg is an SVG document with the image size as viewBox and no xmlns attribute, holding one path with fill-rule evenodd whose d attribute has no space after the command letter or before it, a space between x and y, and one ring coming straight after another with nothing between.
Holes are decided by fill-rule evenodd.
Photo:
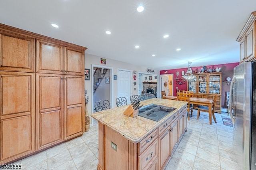
<instances>
[{"instance_id":1,"label":"white door frame around the opening to the staircase","mask_svg":"<svg viewBox=\"0 0 256 170\"><path fill-rule=\"evenodd\" d=\"M94 86L94 78L93 78L93 68L94 67L99 67L99 68L105 68L105 69L109 69L110 70L110 108L113 108L113 84L114 84L114 76L113 76L113 67L107 67L107 66L104 66L104 65L95 65L95 64L92 64L92 67L91 67L91 70L92 70L92 73L91 73L91 85L92 85L92 89L91 89L91 91L92 91L92 94L91 94L91 99L92 99L92 101L94 101L94 94L93 94L93 86ZM94 103L92 102L92 104L91 104L91 113L93 113L93 110L94 110L94 107L93 107L93 105L94 105ZM92 117L92 126L93 126L93 121L94 119L93 119L93 117Z\"/></svg>"}]
</instances>

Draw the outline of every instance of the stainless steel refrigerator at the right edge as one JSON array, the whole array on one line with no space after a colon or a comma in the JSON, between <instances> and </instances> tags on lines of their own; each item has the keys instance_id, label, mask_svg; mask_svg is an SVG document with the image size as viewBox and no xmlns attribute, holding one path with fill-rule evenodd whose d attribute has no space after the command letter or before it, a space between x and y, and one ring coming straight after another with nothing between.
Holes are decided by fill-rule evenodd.
<instances>
[{"instance_id":1,"label":"stainless steel refrigerator at the right edge","mask_svg":"<svg viewBox=\"0 0 256 170\"><path fill-rule=\"evenodd\" d=\"M241 170L256 170L256 62L234 68L230 84L233 146Z\"/></svg>"}]
</instances>

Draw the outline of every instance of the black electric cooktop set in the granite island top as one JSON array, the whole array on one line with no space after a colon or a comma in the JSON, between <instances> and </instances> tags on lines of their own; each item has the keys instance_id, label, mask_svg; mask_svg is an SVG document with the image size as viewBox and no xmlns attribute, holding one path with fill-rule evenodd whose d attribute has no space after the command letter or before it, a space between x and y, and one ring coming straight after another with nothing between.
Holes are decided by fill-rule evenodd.
<instances>
[{"instance_id":1,"label":"black electric cooktop set in the granite island top","mask_svg":"<svg viewBox=\"0 0 256 170\"><path fill-rule=\"evenodd\" d=\"M162 105L147 105L139 109L138 116L151 119L153 121L160 121L163 117L174 111L174 107L166 107Z\"/></svg>"}]
</instances>

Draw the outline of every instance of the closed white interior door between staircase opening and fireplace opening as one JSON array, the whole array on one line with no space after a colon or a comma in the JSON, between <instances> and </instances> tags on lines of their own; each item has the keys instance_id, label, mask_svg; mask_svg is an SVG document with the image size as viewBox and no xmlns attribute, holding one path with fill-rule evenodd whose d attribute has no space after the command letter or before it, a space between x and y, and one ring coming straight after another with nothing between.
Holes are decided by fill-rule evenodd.
<instances>
[{"instance_id":1,"label":"closed white interior door between staircase opening and fireplace opening","mask_svg":"<svg viewBox=\"0 0 256 170\"><path fill-rule=\"evenodd\" d=\"M126 70L119 70L117 73L117 97L125 97L127 104L130 103L130 79L131 72Z\"/></svg>"}]
</instances>

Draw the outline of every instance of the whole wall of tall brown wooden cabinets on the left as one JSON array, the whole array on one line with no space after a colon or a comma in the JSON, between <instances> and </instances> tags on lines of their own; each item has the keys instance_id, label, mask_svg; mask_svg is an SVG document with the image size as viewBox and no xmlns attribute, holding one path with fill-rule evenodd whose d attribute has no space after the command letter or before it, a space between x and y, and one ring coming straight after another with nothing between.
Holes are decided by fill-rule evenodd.
<instances>
[{"instance_id":1,"label":"whole wall of tall brown wooden cabinets on the left","mask_svg":"<svg viewBox=\"0 0 256 170\"><path fill-rule=\"evenodd\" d=\"M0 24L0 164L83 134L86 49Z\"/></svg>"}]
</instances>

